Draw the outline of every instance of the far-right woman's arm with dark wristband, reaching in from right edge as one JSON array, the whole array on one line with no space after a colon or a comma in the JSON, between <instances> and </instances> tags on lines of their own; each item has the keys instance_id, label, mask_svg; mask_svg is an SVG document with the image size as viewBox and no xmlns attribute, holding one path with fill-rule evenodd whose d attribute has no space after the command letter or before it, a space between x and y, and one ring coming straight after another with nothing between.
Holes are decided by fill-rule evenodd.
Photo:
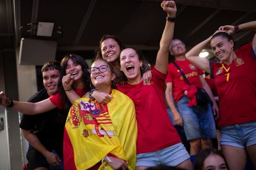
<instances>
[{"instance_id":1,"label":"far-right woman's arm with dark wristband, reaching in from right edge","mask_svg":"<svg viewBox=\"0 0 256 170\"><path fill-rule=\"evenodd\" d=\"M224 25L220 26L219 30L227 31L229 34L237 33L239 31L254 31L256 32L256 21L242 23L240 25ZM252 47L256 51L256 34L252 39Z\"/></svg>"}]
</instances>

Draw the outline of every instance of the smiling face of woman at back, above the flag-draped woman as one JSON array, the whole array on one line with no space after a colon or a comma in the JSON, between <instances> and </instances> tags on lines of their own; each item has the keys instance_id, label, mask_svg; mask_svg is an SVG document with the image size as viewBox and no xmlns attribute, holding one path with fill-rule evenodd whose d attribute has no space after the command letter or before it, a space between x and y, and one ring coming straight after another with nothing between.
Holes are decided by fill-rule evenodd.
<instances>
[{"instance_id":1,"label":"smiling face of woman at back, above the flag-draped woman","mask_svg":"<svg viewBox=\"0 0 256 170\"><path fill-rule=\"evenodd\" d=\"M119 59L120 47L114 39L105 39L101 43L101 54L109 63L114 62Z\"/></svg>"}]
</instances>

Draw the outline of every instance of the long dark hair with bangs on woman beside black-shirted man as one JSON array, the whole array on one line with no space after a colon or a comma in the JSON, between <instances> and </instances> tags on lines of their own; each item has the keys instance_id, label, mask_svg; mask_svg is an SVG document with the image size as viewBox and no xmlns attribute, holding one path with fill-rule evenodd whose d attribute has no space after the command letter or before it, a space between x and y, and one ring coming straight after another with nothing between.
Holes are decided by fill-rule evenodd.
<instances>
[{"instance_id":1,"label":"long dark hair with bangs on woman beside black-shirted man","mask_svg":"<svg viewBox=\"0 0 256 170\"><path fill-rule=\"evenodd\" d=\"M66 75L66 68L67 68L67 62L68 60L71 59L74 63L77 63L79 65L81 65L82 67L82 81L85 85L85 90L89 91L90 89L90 81L89 81L89 73L88 73L88 64L85 61L85 59L83 59L83 57L81 57L80 55L77 54L68 54L65 55L64 58L61 60L61 67L62 67L62 76ZM73 85L72 85L73 86ZM74 87L73 87L74 89ZM61 88L59 88L59 92L61 94L62 97L62 103L64 103L64 110L65 111L69 111L69 108L71 107L71 103L69 102L69 99L67 98L66 92L64 91L63 86L61 86Z\"/></svg>"}]
</instances>

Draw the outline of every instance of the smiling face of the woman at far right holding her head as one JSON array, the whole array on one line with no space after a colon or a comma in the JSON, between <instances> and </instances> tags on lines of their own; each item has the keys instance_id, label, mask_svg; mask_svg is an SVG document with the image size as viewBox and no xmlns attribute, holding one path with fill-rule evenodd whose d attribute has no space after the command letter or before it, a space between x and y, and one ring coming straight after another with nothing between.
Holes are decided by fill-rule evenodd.
<instances>
[{"instance_id":1,"label":"smiling face of the woman at far right holding her head","mask_svg":"<svg viewBox=\"0 0 256 170\"><path fill-rule=\"evenodd\" d=\"M211 39L211 49L213 50L213 54L222 62L226 62L231 58L231 54L233 53L234 41L228 41L227 38L223 38L222 36L216 36Z\"/></svg>"}]
</instances>

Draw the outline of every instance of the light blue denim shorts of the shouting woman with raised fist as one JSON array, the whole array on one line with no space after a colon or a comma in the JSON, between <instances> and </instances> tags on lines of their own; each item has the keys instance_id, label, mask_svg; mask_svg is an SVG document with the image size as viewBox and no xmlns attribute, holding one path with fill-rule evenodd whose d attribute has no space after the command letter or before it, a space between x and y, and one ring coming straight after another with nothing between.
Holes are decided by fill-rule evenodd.
<instances>
[{"instance_id":1,"label":"light blue denim shorts of the shouting woman with raised fist","mask_svg":"<svg viewBox=\"0 0 256 170\"><path fill-rule=\"evenodd\" d=\"M155 152L140 153L137 155L136 166L153 167L160 164L177 166L190 158L182 143L163 148Z\"/></svg>"}]
</instances>

